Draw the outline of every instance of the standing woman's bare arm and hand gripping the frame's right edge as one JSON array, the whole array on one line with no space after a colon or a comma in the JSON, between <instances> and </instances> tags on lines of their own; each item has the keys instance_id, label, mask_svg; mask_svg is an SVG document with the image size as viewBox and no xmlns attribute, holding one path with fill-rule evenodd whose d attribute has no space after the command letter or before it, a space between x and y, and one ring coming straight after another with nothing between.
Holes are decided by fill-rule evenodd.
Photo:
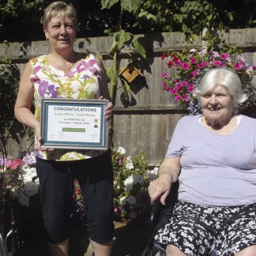
<instances>
[{"instance_id":1,"label":"standing woman's bare arm and hand gripping the frame's right edge","mask_svg":"<svg viewBox=\"0 0 256 256\"><path fill-rule=\"evenodd\" d=\"M97 61L97 64L99 65L100 71L101 71L100 97L99 97L99 99L108 99L109 100L109 104L108 104L108 106L106 106L104 116L107 119L110 119L111 116L113 115L113 104L111 102L111 98L110 98L110 95L109 95L106 70L105 70L105 68L103 66L103 63L100 60L100 58L96 57L96 61Z\"/></svg>"}]
</instances>

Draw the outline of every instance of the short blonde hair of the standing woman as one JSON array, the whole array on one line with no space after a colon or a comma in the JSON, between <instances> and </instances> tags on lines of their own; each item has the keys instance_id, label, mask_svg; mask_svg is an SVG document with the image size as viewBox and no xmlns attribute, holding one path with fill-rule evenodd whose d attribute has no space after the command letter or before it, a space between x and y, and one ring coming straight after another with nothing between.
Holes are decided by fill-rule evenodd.
<instances>
[{"instance_id":1,"label":"short blonde hair of the standing woman","mask_svg":"<svg viewBox=\"0 0 256 256\"><path fill-rule=\"evenodd\" d=\"M72 20L74 22L75 28L77 29L76 9L72 5L63 1L52 2L45 8L43 16L44 28L47 28L52 17L56 17L59 14L61 17L68 17L70 20Z\"/></svg>"}]
</instances>

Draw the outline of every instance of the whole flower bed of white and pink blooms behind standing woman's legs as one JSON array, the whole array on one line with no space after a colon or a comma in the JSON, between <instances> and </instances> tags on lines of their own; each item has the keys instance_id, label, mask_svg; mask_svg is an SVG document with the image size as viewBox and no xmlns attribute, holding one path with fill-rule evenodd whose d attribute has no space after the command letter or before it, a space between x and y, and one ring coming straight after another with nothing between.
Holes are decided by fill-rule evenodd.
<instances>
[{"instance_id":1,"label":"whole flower bed of white and pink blooms behind standing woman's legs","mask_svg":"<svg viewBox=\"0 0 256 256\"><path fill-rule=\"evenodd\" d=\"M114 172L115 220L128 221L140 216L150 205L148 184L157 176L157 168L149 170L143 152L137 156L125 156L123 147L112 149ZM26 154L22 159L0 159L3 173L3 194L11 189L24 207L38 202L39 181L36 175L35 154ZM83 197L77 180L74 182L72 218L85 220Z\"/></svg>"}]
</instances>

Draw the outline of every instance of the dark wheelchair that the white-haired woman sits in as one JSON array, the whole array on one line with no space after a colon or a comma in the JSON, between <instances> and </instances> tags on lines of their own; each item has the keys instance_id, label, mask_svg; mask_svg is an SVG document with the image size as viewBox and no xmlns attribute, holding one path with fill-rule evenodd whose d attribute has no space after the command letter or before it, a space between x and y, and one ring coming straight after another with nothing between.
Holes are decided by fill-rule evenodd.
<instances>
[{"instance_id":1,"label":"dark wheelchair that the white-haired woman sits in","mask_svg":"<svg viewBox=\"0 0 256 256\"><path fill-rule=\"evenodd\" d=\"M152 205L152 211L150 215L150 237L148 244L141 254L141 256L165 256L166 246L154 241L154 236L160 228L164 227L168 223L170 215L172 215L173 207L178 199L179 181L172 184L171 191L166 198L166 205L162 205L158 199ZM214 248L209 256L216 256L217 248Z\"/></svg>"}]
</instances>

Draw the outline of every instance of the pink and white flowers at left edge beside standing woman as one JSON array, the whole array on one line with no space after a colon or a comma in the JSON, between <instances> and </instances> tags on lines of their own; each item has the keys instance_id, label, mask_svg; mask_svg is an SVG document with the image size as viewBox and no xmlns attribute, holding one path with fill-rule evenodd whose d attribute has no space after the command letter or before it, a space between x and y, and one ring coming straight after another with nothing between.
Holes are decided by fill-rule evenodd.
<instances>
[{"instance_id":1,"label":"pink and white flowers at left edge beside standing woman","mask_svg":"<svg viewBox=\"0 0 256 256\"><path fill-rule=\"evenodd\" d=\"M39 181L35 168L35 153L26 154L22 159L0 158L3 177L3 195L11 190L17 195L21 205L29 206L33 196L38 194Z\"/></svg>"}]
</instances>

